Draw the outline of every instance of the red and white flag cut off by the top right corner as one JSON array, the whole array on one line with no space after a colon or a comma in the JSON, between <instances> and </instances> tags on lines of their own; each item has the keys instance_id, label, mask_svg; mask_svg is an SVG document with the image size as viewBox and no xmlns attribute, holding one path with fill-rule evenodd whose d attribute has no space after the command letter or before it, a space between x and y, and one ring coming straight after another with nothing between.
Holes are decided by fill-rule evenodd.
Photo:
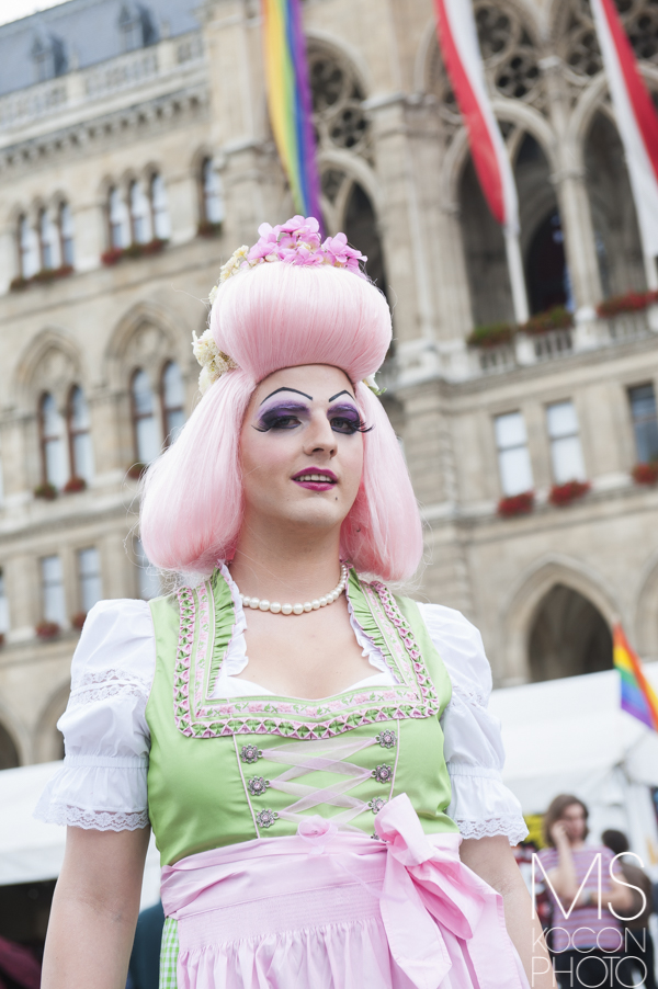
<instances>
[{"instance_id":1,"label":"red and white flag cut off by the top right corner","mask_svg":"<svg viewBox=\"0 0 658 989\"><path fill-rule=\"evenodd\" d=\"M613 0L591 0L646 258L658 254L658 113ZM654 265L654 280L656 271Z\"/></svg>"}]
</instances>

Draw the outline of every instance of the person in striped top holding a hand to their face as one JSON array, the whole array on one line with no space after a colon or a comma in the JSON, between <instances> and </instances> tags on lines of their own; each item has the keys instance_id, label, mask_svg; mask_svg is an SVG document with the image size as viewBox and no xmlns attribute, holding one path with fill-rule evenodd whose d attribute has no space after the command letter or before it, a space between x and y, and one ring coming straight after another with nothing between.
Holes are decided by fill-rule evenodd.
<instances>
[{"instance_id":1,"label":"person in striped top holding a hand to their face","mask_svg":"<svg viewBox=\"0 0 658 989\"><path fill-rule=\"evenodd\" d=\"M572 794L560 794L552 800L544 817L544 840L548 848L540 852L540 861L549 884L553 907L553 964L561 989L591 986L621 989L628 985L624 976L624 932L621 921L605 905L610 903L617 913L631 916L633 898L626 886L610 878L614 857L610 849L585 843L589 833L588 816L582 800ZM601 855L601 917L597 855ZM617 872L621 874L621 869ZM587 884L579 894L588 873Z\"/></svg>"}]
</instances>

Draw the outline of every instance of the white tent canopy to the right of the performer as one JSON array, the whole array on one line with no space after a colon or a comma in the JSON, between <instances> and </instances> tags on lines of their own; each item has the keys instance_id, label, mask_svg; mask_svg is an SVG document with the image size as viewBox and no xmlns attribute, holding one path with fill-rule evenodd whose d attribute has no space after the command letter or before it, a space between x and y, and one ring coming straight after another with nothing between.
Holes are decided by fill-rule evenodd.
<instances>
[{"instance_id":1,"label":"white tent canopy to the right of the performer","mask_svg":"<svg viewBox=\"0 0 658 989\"><path fill-rule=\"evenodd\" d=\"M645 672L658 690L658 663ZM524 814L574 793L594 834L620 828L646 865L658 865L658 734L621 709L615 670L494 691L490 709L502 721L503 778Z\"/></svg>"}]
</instances>

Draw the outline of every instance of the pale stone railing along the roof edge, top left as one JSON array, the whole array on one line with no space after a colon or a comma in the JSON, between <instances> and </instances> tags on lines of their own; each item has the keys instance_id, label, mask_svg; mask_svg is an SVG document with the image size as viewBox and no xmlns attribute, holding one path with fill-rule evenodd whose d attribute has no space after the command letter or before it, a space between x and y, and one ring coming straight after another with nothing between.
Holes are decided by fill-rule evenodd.
<instances>
[{"instance_id":1,"label":"pale stone railing along the roof edge, top left","mask_svg":"<svg viewBox=\"0 0 658 989\"><path fill-rule=\"evenodd\" d=\"M202 58L203 42L196 31L8 93L0 98L0 130L19 129L53 113L164 78Z\"/></svg>"}]
</instances>

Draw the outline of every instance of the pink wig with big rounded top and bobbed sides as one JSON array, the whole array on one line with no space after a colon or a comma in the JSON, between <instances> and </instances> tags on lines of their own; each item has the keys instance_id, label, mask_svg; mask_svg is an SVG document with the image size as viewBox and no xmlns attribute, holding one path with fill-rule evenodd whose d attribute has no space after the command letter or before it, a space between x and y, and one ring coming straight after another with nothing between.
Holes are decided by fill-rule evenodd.
<instances>
[{"instance_id":1,"label":"pink wig with big rounded top and bobbed sides","mask_svg":"<svg viewBox=\"0 0 658 989\"><path fill-rule=\"evenodd\" d=\"M208 388L145 475L140 536L151 564L207 576L232 558L242 522L239 437L254 388L284 367L331 364L355 384L361 414L373 427L363 434L363 476L342 524L341 557L360 573L409 579L422 555L418 505L388 418L362 384L392 339L384 295L329 264L262 263L222 283L211 330L238 367Z\"/></svg>"}]
</instances>

